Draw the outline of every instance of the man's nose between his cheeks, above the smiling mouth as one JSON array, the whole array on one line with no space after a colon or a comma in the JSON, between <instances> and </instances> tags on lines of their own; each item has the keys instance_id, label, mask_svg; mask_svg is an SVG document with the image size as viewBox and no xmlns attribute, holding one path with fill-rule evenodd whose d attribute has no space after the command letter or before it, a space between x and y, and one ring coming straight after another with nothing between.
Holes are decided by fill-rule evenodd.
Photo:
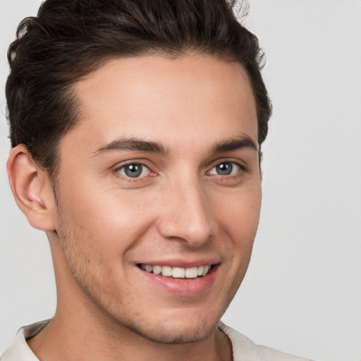
<instances>
[{"instance_id":1,"label":"man's nose between his cheeks, above the smiling mouth","mask_svg":"<svg viewBox=\"0 0 361 361\"><path fill-rule=\"evenodd\" d=\"M163 202L159 233L164 238L197 247L216 234L211 200L197 177L175 182L164 192Z\"/></svg>"}]
</instances>

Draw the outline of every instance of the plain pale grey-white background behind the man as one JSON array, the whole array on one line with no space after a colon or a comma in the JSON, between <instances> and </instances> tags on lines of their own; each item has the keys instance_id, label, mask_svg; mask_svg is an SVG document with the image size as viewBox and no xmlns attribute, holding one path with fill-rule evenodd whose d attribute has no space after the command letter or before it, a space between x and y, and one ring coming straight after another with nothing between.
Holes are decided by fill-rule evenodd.
<instances>
[{"instance_id":1,"label":"plain pale grey-white background behind the man","mask_svg":"<svg viewBox=\"0 0 361 361\"><path fill-rule=\"evenodd\" d=\"M51 317L47 239L8 187L6 49L39 0L0 0L0 354ZM253 259L224 322L256 343L322 361L361 360L361 2L250 0L274 102Z\"/></svg>"}]
</instances>

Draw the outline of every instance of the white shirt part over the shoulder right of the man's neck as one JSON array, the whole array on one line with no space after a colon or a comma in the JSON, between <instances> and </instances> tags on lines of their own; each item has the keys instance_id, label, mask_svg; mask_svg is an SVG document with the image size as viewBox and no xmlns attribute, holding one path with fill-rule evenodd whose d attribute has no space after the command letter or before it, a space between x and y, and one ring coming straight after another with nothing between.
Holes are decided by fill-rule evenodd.
<instances>
[{"instance_id":1,"label":"white shirt part over the shoulder right of the man's neck","mask_svg":"<svg viewBox=\"0 0 361 361\"><path fill-rule=\"evenodd\" d=\"M233 361L311 361L302 357L281 353L273 348L256 345L249 338L219 322L219 329L230 339L233 348Z\"/></svg>"}]
</instances>

